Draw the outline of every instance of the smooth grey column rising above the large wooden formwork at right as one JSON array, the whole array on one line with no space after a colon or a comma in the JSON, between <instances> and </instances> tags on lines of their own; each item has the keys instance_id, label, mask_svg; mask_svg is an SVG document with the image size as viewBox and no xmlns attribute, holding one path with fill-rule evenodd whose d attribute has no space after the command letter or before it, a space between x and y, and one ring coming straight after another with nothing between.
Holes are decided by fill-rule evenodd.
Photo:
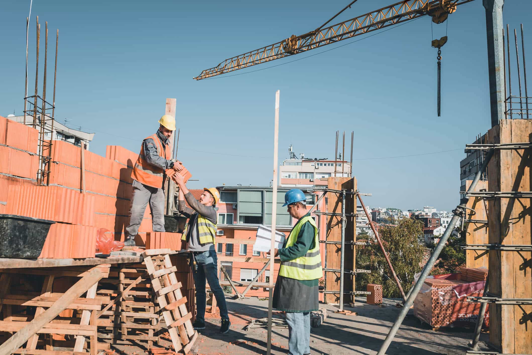
<instances>
[{"instance_id":1,"label":"smooth grey column rising above the large wooden formwork at right","mask_svg":"<svg viewBox=\"0 0 532 355\"><path fill-rule=\"evenodd\" d=\"M502 7L504 0L483 0L486 9L488 40L489 103L492 127L504 119L504 43L502 39Z\"/></svg>"}]
</instances>

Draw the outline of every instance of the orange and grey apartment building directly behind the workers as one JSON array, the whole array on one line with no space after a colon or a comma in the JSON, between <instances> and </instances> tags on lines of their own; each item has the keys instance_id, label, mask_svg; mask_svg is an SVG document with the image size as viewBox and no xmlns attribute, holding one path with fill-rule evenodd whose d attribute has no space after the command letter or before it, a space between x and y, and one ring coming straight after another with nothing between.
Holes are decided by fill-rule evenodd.
<instances>
[{"instance_id":1,"label":"orange and grey apartment building directly behind the workers","mask_svg":"<svg viewBox=\"0 0 532 355\"><path fill-rule=\"evenodd\" d=\"M216 251L219 264L222 265L232 281L252 281L268 260L265 253L254 252L253 244L256 238L257 227L260 224L271 226L272 198L271 187L242 187L220 186L220 202L218 204L218 235L216 238ZM290 230L297 222L290 217L286 207L285 193L289 188L279 187L277 192L276 229L288 236ZM311 192L302 189L307 196L307 209L310 209L322 192ZM320 201L317 210L326 210L325 198ZM320 240L325 240L325 216L313 215L318 225ZM325 265L325 244L320 246L322 265ZM279 264L275 264L273 277L277 278ZM257 282L269 282L269 271L265 271ZM226 280L223 273L219 274L223 284ZM275 280L274 280L275 282ZM245 286L238 287L239 292ZM256 287L246 293L247 296L268 297L268 288Z\"/></svg>"}]
</instances>

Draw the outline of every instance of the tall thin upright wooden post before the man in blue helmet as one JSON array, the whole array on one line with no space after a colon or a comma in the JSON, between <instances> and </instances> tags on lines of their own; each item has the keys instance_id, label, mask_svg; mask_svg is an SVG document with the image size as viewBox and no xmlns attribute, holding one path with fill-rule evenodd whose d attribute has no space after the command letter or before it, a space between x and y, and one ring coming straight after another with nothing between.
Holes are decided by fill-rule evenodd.
<instances>
[{"instance_id":1,"label":"tall thin upright wooden post before the man in blue helmet","mask_svg":"<svg viewBox=\"0 0 532 355\"><path fill-rule=\"evenodd\" d=\"M275 93L275 123L273 124L273 193L271 201L271 248L270 248L270 286L268 298L268 345L267 353L271 354L271 317L273 302L273 263L275 259L275 232L277 223L277 159L278 159L278 142L279 142L279 95L280 91Z\"/></svg>"}]
</instances>

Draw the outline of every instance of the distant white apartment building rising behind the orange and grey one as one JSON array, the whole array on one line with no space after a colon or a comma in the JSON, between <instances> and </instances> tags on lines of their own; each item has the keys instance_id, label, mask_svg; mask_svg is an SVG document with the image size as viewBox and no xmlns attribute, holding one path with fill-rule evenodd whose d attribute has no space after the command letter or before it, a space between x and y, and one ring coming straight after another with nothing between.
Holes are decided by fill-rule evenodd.
<instances>
[{"instance_id":1,"label":"distant white apartment building rising behind the orange and grey one","mask_svg":"<svg viewBox=\"0 0 532 355\"><path fill-rule=\"evenodd\" d=\"M292 151L292 146L288 152L290 158L285 159L279 166L279 185L281 187L326 187L328 177L351 176L351 163L346 160L309 159L305 158L304 154L301 154L298 159Z\"/></svg>"}]
</instances>

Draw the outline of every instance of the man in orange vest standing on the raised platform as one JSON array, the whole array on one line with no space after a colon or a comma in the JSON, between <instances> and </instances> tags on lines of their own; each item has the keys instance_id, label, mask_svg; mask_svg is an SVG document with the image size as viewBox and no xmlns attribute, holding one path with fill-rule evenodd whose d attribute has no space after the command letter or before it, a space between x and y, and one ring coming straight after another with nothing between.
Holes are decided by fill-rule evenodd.
<instances>
[{"instance_id":1,"label":"man in orange vest standing on the raised platform","mask_svg":"<svg viewBox=\"0 0 532 355\"><path fill-rule=\"evenodd\" d=\"M159 120L159 129L145 138L140 154L133 167L133 195L129 211L129 225L126 228L126 247L135 246L135 236L144 217L146 206L152 211L154 232L164 232L164 175L177 171L180 162L172 162L170 137L176 130L173 116L164 115Z\"/></svg>"}]
</instances>

